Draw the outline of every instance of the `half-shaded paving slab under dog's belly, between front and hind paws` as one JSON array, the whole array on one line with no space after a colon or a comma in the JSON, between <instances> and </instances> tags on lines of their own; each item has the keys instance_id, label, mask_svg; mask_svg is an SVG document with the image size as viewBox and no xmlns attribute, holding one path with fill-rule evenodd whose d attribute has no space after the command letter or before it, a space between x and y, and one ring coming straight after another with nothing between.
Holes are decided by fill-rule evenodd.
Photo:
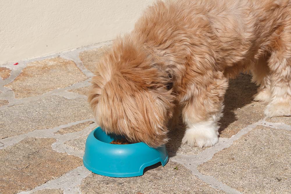
<instances>
[{"instance_id":1,"label":"half-shaded paving slab under dog's belly, between front and hind paws","mask_svg":"<svg viewBox=\"0 0 291 194\"><path fill-rule=\"evenodd\" d=\"M220 137L230 138L246 126L264 118L265 104L254 102L257 86L251 76L240 74L229 81L224 99L223 117L220 120Z\"/></svg>"}]
</instances>

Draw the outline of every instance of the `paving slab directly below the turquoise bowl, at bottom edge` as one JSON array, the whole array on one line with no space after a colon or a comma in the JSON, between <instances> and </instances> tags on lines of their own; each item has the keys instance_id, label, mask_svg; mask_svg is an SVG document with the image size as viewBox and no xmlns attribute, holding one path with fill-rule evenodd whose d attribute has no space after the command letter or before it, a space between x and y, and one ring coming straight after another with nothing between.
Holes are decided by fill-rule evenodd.
<instances>
[{"instance_id":1,"label":"paving slab directly below the turquoise bowl, at bottom edge","mask_svg":"<svg viewBox=\"0 0 291 194\"><path fill-rule=\"evenodd\" d=\"M174 170L178 165L178 170ZM192 194L224 193L195 177L184 166L169 161L164 167L148 170L141 177L113 178L91 174L80 185L82 194Z\"/></svg>"}]
</instances>

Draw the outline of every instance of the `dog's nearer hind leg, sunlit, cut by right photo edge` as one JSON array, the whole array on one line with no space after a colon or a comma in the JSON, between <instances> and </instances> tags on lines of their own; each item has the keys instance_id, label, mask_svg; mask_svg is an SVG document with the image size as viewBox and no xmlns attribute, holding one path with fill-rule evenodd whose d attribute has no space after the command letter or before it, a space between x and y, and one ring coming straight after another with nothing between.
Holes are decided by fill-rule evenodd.
<instances>
[{"instance_id":1,"label":"dog's nearer hind leg, sunlit, cut by right photo edge","mask_svg":"<svg viewBox=\"0 0 291 194\"><path fill-rule=\"evenodd\" d=\"M291 19L290 19L291 22ZM271 101L265 109L267 117L291 115L291 25L277 32L270 45L268 60L271 81Z\"/></svg>"}]
</instances>

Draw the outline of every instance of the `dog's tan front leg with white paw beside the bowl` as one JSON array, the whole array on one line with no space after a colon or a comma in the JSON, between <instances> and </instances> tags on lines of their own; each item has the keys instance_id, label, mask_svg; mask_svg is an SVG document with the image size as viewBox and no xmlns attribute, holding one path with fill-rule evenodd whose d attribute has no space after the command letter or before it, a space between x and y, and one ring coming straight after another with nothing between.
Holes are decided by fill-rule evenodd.
<instances>
[{"instance_id":1,"label":"dog's tan front leg with white paw beside the bowl","mask_svg":"<svg viewBox=\"0 0 291 194\"><path fill-rule=\"evenodd\" d=\"M214 77L208 80L206 85L205 82L204 85L192 83L182 97L187 99L182 101L182 118L187 125L182 143L190 146L210 147L218 142L218 121L222 116L228 81L222 72L214 73Z\"/></svg>"}]
</instances>

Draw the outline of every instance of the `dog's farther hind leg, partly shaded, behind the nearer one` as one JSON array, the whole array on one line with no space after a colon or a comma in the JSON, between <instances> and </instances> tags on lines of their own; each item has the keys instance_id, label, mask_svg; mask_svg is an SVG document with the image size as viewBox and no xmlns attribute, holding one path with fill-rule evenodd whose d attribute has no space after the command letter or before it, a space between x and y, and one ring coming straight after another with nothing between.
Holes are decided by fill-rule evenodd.
<instances>
[{"instance_id":1,"label":"dog's farther hind leg, partly shaded, behind the nearer one","mask_svg":"<svg viewBox=\"0 0 291 194\"><path fill-rule=\"evenodd\" d=\"M251 72L253 74L252 82L260 86L258 88L258 93L254 95L254 100L264 103L270 102L272 95L270 71L267 60L267 56L262 56L251 68Z\"/></svg>"}]
</instances>

